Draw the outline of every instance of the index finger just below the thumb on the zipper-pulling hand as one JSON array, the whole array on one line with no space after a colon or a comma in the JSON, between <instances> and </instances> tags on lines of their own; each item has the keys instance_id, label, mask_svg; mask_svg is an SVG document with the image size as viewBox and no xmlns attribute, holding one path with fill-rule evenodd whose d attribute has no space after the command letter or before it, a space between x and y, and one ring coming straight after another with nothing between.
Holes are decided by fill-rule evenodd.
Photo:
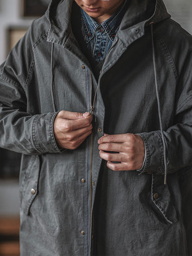
<instances>
[{"instance_id":1,"label":"index finger just below the thumb on the zipper-pulling hand","mask_svg":"<svg viewBox=\"0 0 192 256\"><path fill-rule=\"evenodd\" d=\"M62 122L63 133L88 127L92 122L92 118L93 118L92 116L88 116L86 118L81 118L76 120L63 119L63 122Z\"/></svg>"}]
</instances>

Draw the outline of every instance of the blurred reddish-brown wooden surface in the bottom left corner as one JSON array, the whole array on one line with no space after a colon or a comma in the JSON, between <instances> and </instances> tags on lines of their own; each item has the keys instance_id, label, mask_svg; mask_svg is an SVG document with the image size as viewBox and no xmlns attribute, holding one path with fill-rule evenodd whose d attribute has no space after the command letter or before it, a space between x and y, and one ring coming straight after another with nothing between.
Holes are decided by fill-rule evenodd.
<instances>
[{"instance_id":1,"label":"blurred reddish-brown wooden surface in the bottom left corner","mask_svg":"<svg viewBox=\"0 0 192 256\"><path fill-rule=\"evenodd\" d=\"M0 217L0 256L19 256L19 216Z\"/></svg>"}]
</instances>

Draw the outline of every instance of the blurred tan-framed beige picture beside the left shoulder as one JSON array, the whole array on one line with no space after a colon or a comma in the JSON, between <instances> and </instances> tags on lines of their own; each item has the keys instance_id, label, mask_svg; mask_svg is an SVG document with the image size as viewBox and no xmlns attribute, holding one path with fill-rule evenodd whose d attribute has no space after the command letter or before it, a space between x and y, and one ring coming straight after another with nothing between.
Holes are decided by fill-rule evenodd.
<instances>
[{"instance_id":1,"label":"blurred tan-framed beige picture beside the left shoulder","mask_svg":"<svg viewBox=\"0 0 192 256\"><path fill-rule=\"evenodd\" d=\"M11 26L7 30L7 54L16 45L16 43L27 32L28 27L23 26Z\"/></svg>"}]
</instances>

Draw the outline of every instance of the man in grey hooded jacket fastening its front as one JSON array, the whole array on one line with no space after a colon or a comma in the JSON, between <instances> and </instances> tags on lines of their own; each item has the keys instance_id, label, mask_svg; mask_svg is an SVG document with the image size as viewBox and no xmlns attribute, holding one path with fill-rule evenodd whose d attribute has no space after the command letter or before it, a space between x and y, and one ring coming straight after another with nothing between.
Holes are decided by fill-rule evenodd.
<instances>
[{"instance_id":1,"label":"man in grey hooded jacket fastening its front","mask_svg":"<svg viewBox=\"0 0 192 256\"><path fill-rule=\"evenodd\" d=\"M52 0L34 21L0 68L22 256L190 255L191 55L162 0Z\"/></svg>"}]
</instances>

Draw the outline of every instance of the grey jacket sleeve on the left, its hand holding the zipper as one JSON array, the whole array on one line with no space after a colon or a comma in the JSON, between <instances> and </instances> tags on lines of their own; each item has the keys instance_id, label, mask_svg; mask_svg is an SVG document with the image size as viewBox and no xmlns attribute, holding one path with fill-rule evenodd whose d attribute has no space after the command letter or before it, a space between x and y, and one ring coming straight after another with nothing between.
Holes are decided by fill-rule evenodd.
<instances>
[{"instance_id":1,"label":"grey jacket sleeve on the left, its hand holding the zipper","mask_svg":"<svg viewBox=\"0 0 192 256\"><path fill-rule=\"evenodd\" d=\"M0 147L23 154L62 153L53 134L57 112L33 114L27 108L32 48L29 29L0 66Z\"/></svg>"}]
</instances>

